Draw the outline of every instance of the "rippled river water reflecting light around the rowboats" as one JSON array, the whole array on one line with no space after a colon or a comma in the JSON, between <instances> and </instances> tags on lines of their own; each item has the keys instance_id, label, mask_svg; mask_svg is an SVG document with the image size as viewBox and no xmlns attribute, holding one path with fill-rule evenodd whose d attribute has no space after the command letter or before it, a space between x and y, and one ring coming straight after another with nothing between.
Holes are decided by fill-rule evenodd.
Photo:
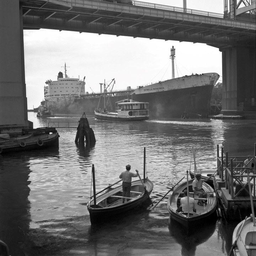
<instances>
[{"instance_id":1,"label":"rippled river water reflecting light around the rowboats","mask_svg":"<svg viewBox=\"0 0 256 256\"><path fill-rule=\"evenodd\" d=\"M34 128L48 122L77 122L80 117L37 119ZM216 169L217 144L230 155L253 154L256 141L252 121L161 119L141 122L97 121L88 117L96 144L75 144L76 128L57 129L59 149L0 155L0 239L11 255L226 255L232 228L219 224L199 236L182 240L169 225L166 200L153 211L130 213L111 225L90 225L86 203L91 196L91 166L95 165L96 190L119 179L126 164L154 183L156 203L193 169L192 147L198 169ZM170 254L172 252L172 254Z\"/></svg>"}]
</instances>

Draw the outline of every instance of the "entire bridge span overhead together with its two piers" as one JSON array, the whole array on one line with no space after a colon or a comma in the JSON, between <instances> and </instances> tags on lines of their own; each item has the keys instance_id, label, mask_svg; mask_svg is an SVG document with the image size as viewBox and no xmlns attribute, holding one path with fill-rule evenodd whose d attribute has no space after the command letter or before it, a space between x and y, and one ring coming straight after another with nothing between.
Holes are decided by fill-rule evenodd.
<instances>
[{"instance_id":1,"label":"entire bridge span overhead together with its two piers","mask_svg":"<svg viewBox=\"0 0 256 256\"><path fill-rule=\"evenodd\" d=\"M175 7L176 8L176 7ZM0 1L0 130L29 127L23 29L206 43L223 54L223 112L255 111L255 23L104 1Z\"/></svg>"}]
</instances>

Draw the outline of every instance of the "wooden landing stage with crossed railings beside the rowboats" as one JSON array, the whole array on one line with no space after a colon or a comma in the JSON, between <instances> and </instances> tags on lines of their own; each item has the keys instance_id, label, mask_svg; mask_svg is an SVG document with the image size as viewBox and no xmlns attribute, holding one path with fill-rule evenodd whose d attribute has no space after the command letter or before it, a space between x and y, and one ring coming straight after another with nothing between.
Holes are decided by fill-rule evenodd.
<instances>
[{"instance_id":1,"label":"wooden landing stage with crossed railings beside the rowboats","mask_svg":"<svg viewBox=\"0 0 256 256\"><path fill-rule=\"evenodd\" d=\"M220 202L222 215L227 222L241 222L252 213L251 200L256 209L256 143L254 155L250 156L247 164L244 161L248 156L229 156L228 152L219 155L217 148L217 174L213 179L216 187L216 196Z\"/></svg>"}]
</instances>

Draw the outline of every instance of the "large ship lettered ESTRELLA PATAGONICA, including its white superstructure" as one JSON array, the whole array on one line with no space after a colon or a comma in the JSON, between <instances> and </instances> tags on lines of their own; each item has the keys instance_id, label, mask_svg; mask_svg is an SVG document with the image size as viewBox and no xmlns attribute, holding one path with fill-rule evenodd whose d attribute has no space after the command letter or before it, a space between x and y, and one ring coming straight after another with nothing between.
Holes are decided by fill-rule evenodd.
<instances>
[{"instance_id":1,"label":"large ship lettered ESTRELLA PATAGONICA, including its white superstructure","mask_svg":"<svg viewBox=\"0 0 256 256\"><path fill-rule=\"evenodd\" d=\"M106 107L103 98L108 107L113 108L116 102L129 98L149 102L150 118L204 118L208 115L213 86L218 79L217 73L192 74L114 91L111 86L102 83L100 92L89 94L85 92L84 81L68 78L65 67L64 78L59 72L57 81L46 82L44 98L55 115L82 115L84 112L94 115L96 108Z\"/></svg>"}]
</instances>

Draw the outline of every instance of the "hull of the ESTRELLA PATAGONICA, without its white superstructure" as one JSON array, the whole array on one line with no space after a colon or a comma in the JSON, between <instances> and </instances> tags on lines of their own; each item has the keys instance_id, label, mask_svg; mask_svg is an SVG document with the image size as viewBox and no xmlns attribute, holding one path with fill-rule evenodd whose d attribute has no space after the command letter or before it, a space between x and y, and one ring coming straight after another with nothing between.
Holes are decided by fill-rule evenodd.
<instances>
[{"instance_id":1,"label":"hull of the ESTRELLA PATAGONICA, without its white superstructure","mask_svg":"<svg viewBox=\"0 0 256 256\"><path fill-rule=\"evenodd\" d=\"M129 94L115 94L109 97L112 107L115 102L129 98L140 102L149 102L152 118L207 117L213 86L219 75L213 73L191 75L166 80L150 86L144 86ZM106 100L108 98L105 95ZM106 101L105 100L105 101ZM79 99L48 101L55 115L58 114L94 114L95 108L104 108L103 95L100 97L85 95Z\"/></svg>"}]
</instances>

